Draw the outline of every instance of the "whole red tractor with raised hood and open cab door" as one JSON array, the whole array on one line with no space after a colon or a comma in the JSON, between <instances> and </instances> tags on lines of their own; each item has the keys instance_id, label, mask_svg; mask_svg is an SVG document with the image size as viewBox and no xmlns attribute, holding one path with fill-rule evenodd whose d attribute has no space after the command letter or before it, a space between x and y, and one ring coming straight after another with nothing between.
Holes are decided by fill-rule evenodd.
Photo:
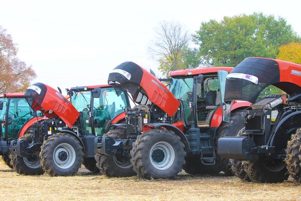
<instances>
[{"instance_id":1,"label":"whole red tractor with raised hood and open cab door","mask_svg":"<svg viewBox=\"0 0 301 201\"><path fill-rule=\"evenodd\" d=\"M152 71L133 62L115 67L108 83L117 94L129 92L139 105L126 110L126 126L95 139L100 169L109 176L147 179L174 178L182 168L191 174L210 169L230 173L229 160L216 155L216 143L244 127L240 113L250 106L235 102L228 115L224 84L232 69L173 71L169 90Z\"/></svg>"}]
</instances>

